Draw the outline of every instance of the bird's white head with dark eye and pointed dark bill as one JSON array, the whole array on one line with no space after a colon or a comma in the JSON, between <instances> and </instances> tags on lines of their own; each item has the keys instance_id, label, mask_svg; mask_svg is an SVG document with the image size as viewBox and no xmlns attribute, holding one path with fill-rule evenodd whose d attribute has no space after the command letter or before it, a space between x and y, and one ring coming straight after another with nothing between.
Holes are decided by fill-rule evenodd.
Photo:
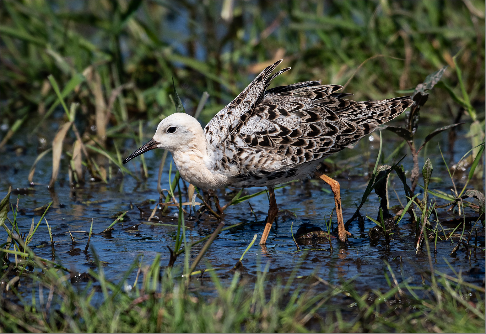
<instances>
[{"instance_id":1,"label":"bird's white head with dark eye and pointed dark bill","mask_svg":"<svg viewBox=\"0 0 486 334\"><path fill-rule=\"evenodd\" d=\"M201 146L204 147L201 147ZM137 151L132 153L123 163L154 148L162 148L174 153L177 150L187 151L191 148L206 149L203 128L192 116L176 112L164 118L157 126L154 137Z\"/></svg>"}]
</instances>

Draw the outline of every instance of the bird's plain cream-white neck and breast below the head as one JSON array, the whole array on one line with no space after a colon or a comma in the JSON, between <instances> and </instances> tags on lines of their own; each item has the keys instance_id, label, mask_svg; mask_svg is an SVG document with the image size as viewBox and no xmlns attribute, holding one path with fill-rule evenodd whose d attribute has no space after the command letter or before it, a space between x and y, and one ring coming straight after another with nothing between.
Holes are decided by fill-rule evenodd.
<instances>
[{"instance_id":1,"label":"bird's plain cream-white neck and breast below the head","mask_svg":"<svg viewBox=\"0 0 486 334\"><path fill-rule=\"evenodd\" d=\"M199 136L198 136L199 137ZM210 169L212 165L204 136L194 138L172 152L174 163L184 180L202 189L216 189L226 185L227 177Z\"/></svg>"}]
</instances>

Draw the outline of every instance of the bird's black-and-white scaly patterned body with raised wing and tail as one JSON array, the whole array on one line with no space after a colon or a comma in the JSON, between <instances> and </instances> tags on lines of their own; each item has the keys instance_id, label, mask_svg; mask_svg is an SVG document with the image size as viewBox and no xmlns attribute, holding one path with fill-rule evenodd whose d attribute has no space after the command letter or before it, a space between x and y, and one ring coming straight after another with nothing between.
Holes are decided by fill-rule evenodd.
<instances>
[{"instance_id":1,"label":"bird's black-and-white scaly patterned body with raised wing and tail","mask_svg":"<svg viewBox=\"0 0 486 334\"><path fill-rule=\"evenodd\" d=\"M237 187L274 185L312 172L332 153L371 133L412 104L410 96L355 102L339 85L298 82L266 90L289 70L265 68L205 127L214 170Z\"/></svg>"}]
</instances>

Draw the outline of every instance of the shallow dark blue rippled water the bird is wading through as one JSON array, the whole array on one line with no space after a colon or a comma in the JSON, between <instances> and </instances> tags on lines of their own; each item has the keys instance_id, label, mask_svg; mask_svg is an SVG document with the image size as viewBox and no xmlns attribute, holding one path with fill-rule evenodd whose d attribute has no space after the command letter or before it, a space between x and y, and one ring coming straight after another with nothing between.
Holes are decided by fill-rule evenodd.
<instances>
[{"instance_id":1,"label":"shallow dark blue rippled water the bird is wading through","mask_svg":"<svg viewBox=\"0 0 486 334\"><path fill-rule=\"evenodd\" d=\"M433 129L435 127L431 127ZM428 129L422 127L425 134L429 133ZM147 129L147 133L152 129ZM455 143L456 152L452 155L453 161L458 161L470 147L469 142L464 139L464 133L461 133L458 141ZM49 143L49 141L48 141ZM383 132L383 156L387 157L400 143L400 139L394 134ZM431 141L426 149L428 158L432 160L434 166L434 177L436 179L430 186L431 189L449 192L451 180L447 175L447 170L438 153L437 143L443 151L447 152L447 132L436 137ZM125 156L135 150L134 143L128 143L125 147ZM376 156L378 155L379 141L377 136L373 141L370 138L363 139L354 149L345 149L343 152L331 157L334 161L343 161L349 159L349 169L342 172L336 179L341 184L341 197L343 205L343 214L345 221L352 216L356 205L361 202L364 189L366 188L367 175L372 171ZM20 154L19 154L20 152ZM55 189L50 191L44 185L36 185L33 190L25 191L22 188L28 187L27 175L35 160L37 152L37 138L17 137L6 146L6 150L1 155L1 197L5 196L8 187L12 186L15 195L11 196L11 203L15 207L17 193L20 194L19 209L21 215L17 218L20 231L27 232L31 226L32 216L35 223L40 216L36 215L34 209L53 201L46 219L52 226L53 239L55 241L55 254L53 256L50 243L43 245L43 241L49 242L49 234L45 222L42 222L35 233L34 239L30 244L34 252L41 257L54 259L62 263L65 267L77 271L86 272L89 268L95 269L93 265L93 254L89 250L84 252L88 232L91 222L93 222L93 232L96 233L90 240L90 246L99 256L101 261L107 264L104 272L107 277L117 281L121 274L125 272L136 258L142 255L142 261L150 264L157 254L161 255L163 265L169 262L169 251L167 246L174 248L174 238L176 228L168 226L153 226L144 224L146 219L140 218L140 212L137 206L142 202L151 199L157 200L156 178L158 173L158 164L162 152L153 150L145 154L149 166L149 177L145 182L137 183L129 175L118 173L108 184L102 182L87 182L84 187L71 189L69 187L67 169L63 166ZM406 171L412 168L412 159L408 148L403 147L399 158L408 154L402 163ZM170 157L170 156L169 156ZM445 154L449 159L449 153ZM162 188L168 188L169 180L169 163L167 159L162 176ZM397 160L397 159L395 159ZM128 168L139 173L139 158L130 162ZM392 164L394 161L388 162ZM65 164L65 161L63 161ZM344 167L339 164L341 167ZM423 155L420 159L420 167L423 165ZM451 166L451 165L450 165ZM35 171L34 181L39 184L47 184L50 180L51 162L50 155L42 159ZM407 174L409 176L409 173ZM456 184L462 187L463 181L455 180ZM184 185L181 181L181 189ZM402 204L403 187L397 177L391 182L393 188L398 194ZM459 186L458 186L459 187ZM472 184L471 188L483 191L482 181L478 184ZM389 206L399 205L399 201L393 189L390 188ZM18 189L18 190L17 190ZM253 188L245 190L245 193L254 193L264 188ZM327 191L323 191L325 189ZM234 189L227 188L217 192L221 204L226 204L231 199L231 195L226 195ZM237 191L237 190L236 190ZM420 187L417 187L420 191ZM304 180L303 182L294 182L285 188L276 190L277 203L279 205L278 223L274 224L267 240L266 247L258 245L261 232L264 226L266 212L268 210L268 200L265 194L251 198L247 202L230 206L226 209L224 222L226 226L235 223L246 223L235 229L222 232L205 254L197 269L204 269L208 265L211 267L232 268L243 251L248 246L255 234L258 234L257 242L252 246L243 259L243 272L255 277L257 270L262 270L268 264L269 279L273 281L277 277L288 277L291 271L302 261L297 270L298 276L307 276L315 272L321 278L329 281L331 284L338 284L342 280L354 278L354 286L364 291L374 288L388 288L384 276L387 261L399 281L411 277L411 283L420 285L422 282L422 273L430 271L428 256L425 252L416 254L415 251L415 229L410 225L409 217L405 216L399 226L393 231L391 236L390 249L386 249L384 239L373 242L368 237L368 231L375 224L370 220L364 220L360 226L358 221L354 221L349 226L349 231L354 238L349 239L347 245L342 245L337 239L332 239L333 249L330 250L329 241L318 239L314 241L300 242L300 251L297 251L291 235L291 225L293 231L303 223L311 223L320 226L326 230L325 220L329 219L330 213L334 207L332 193L329 192L329 186L323 182ZM421 198L421 195L419 195ZM188 201L187 194L183 193L183 201ZM198 200L197 200L198 201ZM474 201L474 200L473 200ZM439 204L446 203L445 200L437 199ZM255 214L251 212L250 205ZM146 207L152 210L154 202ZM374 192L369 196L368 201L361 209L363 215L369 214L376 218L378 214L379 200ZM185 207L189 211L189 207ZM440 211L442 210L442 211ZM110 223L116 219L116 214L128 211L125 220L117 223L110 235L100 234ZM167 217L163 217L159 223L177 224L178 210L171 207ZM448 216L445 209L439 209L440 221L456 218L457 213ZM471 209L467 209L466 214L469 216L477 215ZM9 213L9 217L12 214ZM335 222L335 215L333 221ZM128 229L134 224L142 223L137 230ZM196 241L202 237L211 234L218 222L210 218L208 214L203 214L200 220L195 216L185 215L185 223L188 229L186 237L188 242ZM433 223L434 226L435 223ZM334 227L334 226L333 226ZM446 225L445 227L451 227ZM477 250L469 253L464 247L461 247L455 256L450 256L454 244L451 240L438 241L437 252L432 254L434 269L445 272L454 276L453 271L461 271L464 279L484 286L485 284L485 254L484 249L484 232L482 225L476 225L479 241ZM462 229L462 227L461 227ZM467 226L470 230L470 226ZM68 230L72 233L76 244L72 244ZM1 242L6 240L6 233L1 232ZM457 238L454 242L457 242ZM474 248L475 237L471 238L470 246ZM204 243L195 245L191 251L191 260L197 256ZM35 247L40 246L40 247ZM431 245L431 247L433 247ZM308 250L305 255L304 250ZM184 256L180 255L176 264L181 264ZM219 271L220 274L227 270ZM136 270L129 277L128 282L133 282ZM297 284L297 283L295 283Z\"/></svg>"}]
</instances>

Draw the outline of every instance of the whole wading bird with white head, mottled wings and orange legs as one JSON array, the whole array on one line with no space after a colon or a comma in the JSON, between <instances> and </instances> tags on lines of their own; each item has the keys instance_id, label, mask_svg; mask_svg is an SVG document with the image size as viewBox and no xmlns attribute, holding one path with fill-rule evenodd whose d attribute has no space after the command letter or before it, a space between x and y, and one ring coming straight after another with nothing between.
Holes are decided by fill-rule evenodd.
<instances>
[{"instance_id":1,"label":"whole wading bird with white head, mottled wings and orange legs","mask_svg":"<svg viewBox=\"0 0 486 334\"><path fill-rule=\"evenodd\" d=\"M339 85L298 82L268 89L279 60L265 68L204 128L177 112L162 120L154 137L123 160L154 148L169 150L180 175L202 189L267 187L270 208L260 244L265 244L278 207L274 186L315 173L334 194L339 239L347 235L339 183L316 171L322 160L356 143L412 104L410 96L355 102Z\"/></svg>"}]
</instances>

